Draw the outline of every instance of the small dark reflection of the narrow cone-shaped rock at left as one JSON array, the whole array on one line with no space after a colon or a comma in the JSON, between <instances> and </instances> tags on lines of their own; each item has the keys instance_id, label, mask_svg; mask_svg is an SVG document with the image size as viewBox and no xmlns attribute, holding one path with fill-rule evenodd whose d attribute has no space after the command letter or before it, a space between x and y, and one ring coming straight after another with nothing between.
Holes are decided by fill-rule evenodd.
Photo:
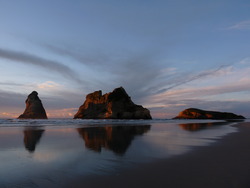
<instances>
[{"instance_id":1,"label":"small dark reflection of the narrow cone-shaped rock at left","mask_svg":"<svg viewBox=\"0 0 250 188\"><path fill-rule=\"evenodd\" d=\"M30 152L34 152L36 149L36 145L38 144L39 140L42 137L44 130L41 129L25 129L23 131L24 134L24 145L25 148L30 151Z\"/></svg>"}]
</instances>

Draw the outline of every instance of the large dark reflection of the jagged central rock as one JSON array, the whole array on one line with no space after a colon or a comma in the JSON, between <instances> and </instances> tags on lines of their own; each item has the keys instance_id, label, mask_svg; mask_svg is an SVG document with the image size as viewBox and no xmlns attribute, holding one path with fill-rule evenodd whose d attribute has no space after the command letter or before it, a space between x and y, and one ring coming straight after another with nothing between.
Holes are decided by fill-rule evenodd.
<instances>
[{"instance_id":1,"label":"large dark reflection of the jagged central rock","mask_svg":"<svg viewBox=\"0 0 250 188\"><path fill-rule=\"evenodd\" d=\"M150 125L140 126L110 126L78 128L77 131L85 141L85 146L97 152L102 148L124 154L137 135L150 130Z\"/></svg>"}]
</instances>

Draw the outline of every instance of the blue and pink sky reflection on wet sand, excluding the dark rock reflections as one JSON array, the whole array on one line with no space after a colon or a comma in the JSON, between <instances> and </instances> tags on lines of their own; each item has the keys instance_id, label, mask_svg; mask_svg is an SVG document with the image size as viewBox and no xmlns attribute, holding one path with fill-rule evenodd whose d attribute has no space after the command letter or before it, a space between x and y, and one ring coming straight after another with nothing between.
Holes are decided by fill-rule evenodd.
<instances>
[{"instance_id":1,"label":"blue and pink sky reflection on wet sand, excluding the dark rock reflections","mask_svg":"<svg viewBox=\"0 0 250 188\"><path fill-rule=\"evenodd\" d=\"M222 125L191 132L177 124L154 123L148 132L134 137L124 155L116 155L108 149L100 153L89 150L75 128L60 127L46 127L35 151L30 153L24 147L23 128L2 127L0 187L60 185L62 180L77 176L117 173L133 164L183 154L190 146L205 146L235 131L234 127Z\"/></svg>"}]
</instances>

